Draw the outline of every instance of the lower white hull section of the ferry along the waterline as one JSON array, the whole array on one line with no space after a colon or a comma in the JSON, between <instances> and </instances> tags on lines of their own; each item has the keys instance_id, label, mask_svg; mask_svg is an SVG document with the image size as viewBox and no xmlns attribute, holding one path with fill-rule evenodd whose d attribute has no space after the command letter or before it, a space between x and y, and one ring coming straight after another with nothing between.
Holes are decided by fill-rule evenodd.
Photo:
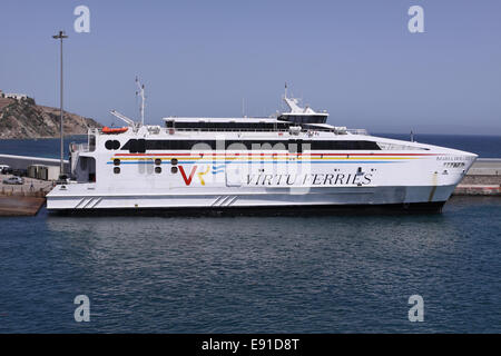
<instances>
[{"instance_id":1,"label":"lower white hull section of the ferry along the waterline","mask_svg":"<svg viewBox=\"0 0 501 356\"><path fill-rule=\"evenodd\" d=\"M355 207L389 208L402 207L403 210L429 208L440 210L449 199L454 186L424 187L350 187L350 188L312 188L308 194L291 194L287 188L274 189L262 194L227 192L225 195L91 195L91 196L52 196L48 208L52 211L71 211L89 214L102 210L121 210L122 212L160 210L197 211L281 209L310 207L318 209L352 209Z\"/></svg>"}]
</instances>

